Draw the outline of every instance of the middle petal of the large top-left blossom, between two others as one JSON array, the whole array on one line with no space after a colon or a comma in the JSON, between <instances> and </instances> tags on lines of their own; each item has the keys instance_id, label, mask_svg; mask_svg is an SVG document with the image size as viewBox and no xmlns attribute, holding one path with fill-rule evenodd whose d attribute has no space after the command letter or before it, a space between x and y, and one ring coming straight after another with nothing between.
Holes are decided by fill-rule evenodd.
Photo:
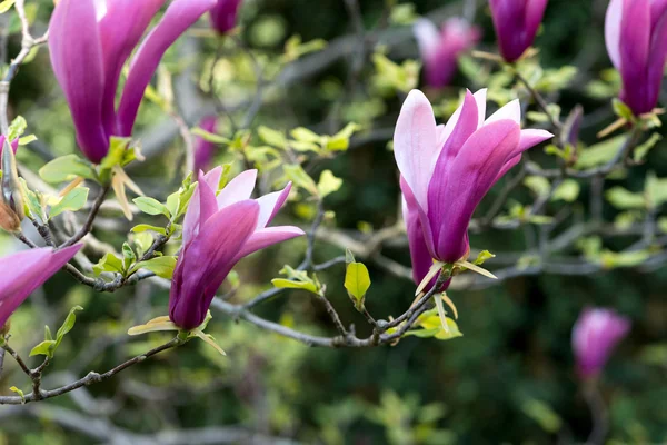
<instances>
[{"instance_id":1,"label":"middle petal of the large top-left blossom, between two others","mask_svg":"<svg viewBox=\"0 0 667 445\"><path fill-rule=\"evenodd\" d=\"M99 23L104 62L102 117L107 134L116 134L116 90L126 60L166 0L106 0Z\"/></svg>"}]
</instances>

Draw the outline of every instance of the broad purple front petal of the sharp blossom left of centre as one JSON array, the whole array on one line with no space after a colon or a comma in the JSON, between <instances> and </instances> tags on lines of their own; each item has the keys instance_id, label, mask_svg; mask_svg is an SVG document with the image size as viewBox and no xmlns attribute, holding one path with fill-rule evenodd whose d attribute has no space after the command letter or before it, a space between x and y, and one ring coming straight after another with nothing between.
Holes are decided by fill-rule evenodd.
<instances>
[{"instance_id":1,"label":"broad purple front petal of the sharp blossom left of centre","mask_svg":"<svg viewBox=\"0 0 667 445\"><path fill-rule=\"evenodd\" d=\"M203 322L238 253L252 235L258 215L259 205L253 200L232 204L209 218L181 253L169 299L169 316L177 326L192 329Z\"/></svg>"}]
</instances>

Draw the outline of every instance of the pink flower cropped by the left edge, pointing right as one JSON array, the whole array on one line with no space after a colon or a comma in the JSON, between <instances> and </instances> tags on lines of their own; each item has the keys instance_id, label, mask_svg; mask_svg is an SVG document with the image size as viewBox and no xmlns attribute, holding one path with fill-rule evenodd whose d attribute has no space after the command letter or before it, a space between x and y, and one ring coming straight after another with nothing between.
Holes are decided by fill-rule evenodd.
<instances>
[{"instance_id":1,"label":"pink flower cropped by the left edge, pointing right","mask_svg":"<svg viewBox=\"0 0 667 445\"><path fill-rule=\"evenodd\" d=\"M0 258L0 328L9 316L79 251L81 245L62 250L40 248Z\"/></svg>"}]
</instances>

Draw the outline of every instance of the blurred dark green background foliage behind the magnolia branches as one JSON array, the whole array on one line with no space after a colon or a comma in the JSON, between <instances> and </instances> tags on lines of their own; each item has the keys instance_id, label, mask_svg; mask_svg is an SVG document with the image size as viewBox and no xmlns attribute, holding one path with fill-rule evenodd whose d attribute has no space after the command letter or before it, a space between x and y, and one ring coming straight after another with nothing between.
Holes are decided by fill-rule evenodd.
<instances>
[{"instance_id":1,"label":"blurred dark green background foliage behind the magnolia branches","mask_svg":"<svg viewBox=\"0 0 667 445\"><path fill-rule=\"evenodd\" d=\"M43 31L50 3L31 0L27 3L39 6L34 29ZM488 8L484 1L477 3L475 22L484 28L479 48L494 51L495 34ZM458 1L411 4L415 14L432 14L430 17L438 20L464 11L464 4ZM551 0L535 44L540 49L544 67L575 65L580 68L577 81L552 99L558 100L564 110L583 103L586 115L594 116L581 132L587 144L593 144L596 131L614 120L607 99L590 97L584 91L586 83L610 66L603 40L606 6L606 1ZM361 0L360 10L365 28L370 32L382 20L386 2ZM303 41L329 41L319 55L331 51L336 44L345 47L346 41L355 42L348 38L356 31L341 0L248 0L240 23L239 37L257 50L260 62L266 63L275 63L292 34L300 34ZM4 26L8 26L7 20ZM198 26L198 30L206 28L203 21ZM390 24L381 32L379 43L387 44L390 59L401 62L406 58L418 58L409 26ZM189 36L193 44L185 49L181 44L166 58L165 65L172 72L183 69L183 60L195 60L190 62L195 73L186 76L191 82L197 82L207 60L216 53L216 39L201 33L203 37ZM368 39L370 53L375 43L372 37ZM12 32L9 37L11 53L19 46L20 34ZM228 43L222 59L227 57L233 68L238 53L236 43ZM272 91L253 125L283 130L306 126L331 134L347 121L367 119L364 123L382 130L385 137L369 141L364 140L364 134L359 135L354 150L315 167L315 171L331 169L345 179L341 190L326 201L327 210L336 212L339 228L357 230L371 226L379 229L394 224L398 214L397 171L387 142L402 99L400 95L381 97L369 87L374 73L369 55L357 71L350 68L354 51L345 51L345 55ZM299 60L302 62L299 69L305 69L317 57L317 52L305 56ZM235 75L221 80L218 90L223 101L252 93L253 80L243 78L239 67L232 71ZM480 86L459 73L441 97L456 100L459 89L465 87ZM39 137L43 150L61 155L74 149L69 115L43 48L21 69L12 85L11 106L12 113L28 119L28 132ZM158 107L145 105L140 129L150 135L165 120ZM666 148L661 144L651 150L647 166L634 169L624 187L641 189L649 169L658 175L667 174ZM166 151L150 158L132 172L132 178L152 196L166 196L171 190L165 189L165 184L178 180L173 178L179 172L175 162L179 150L182 150L181 142L169 142ZM19 160L39 168L43 158L34 151L22 150ZM539 160L539 156L535 158ZM225 157L226 154L220 155L220 159ZM525 200L528 196L519 194L518 199ZM588 205L586 194L579 200L573 206ZM307 227L306 207L288 206L279 220ZM487 208L488 202L482 207ZM605 207L607 219L615 215L614 209ZM107 217L118 219L117 215ZM526 234L531 230L535 228L491 230L474 236L471 245L498 254L520 253L526 249ZM117 248L125 239L125 231L98 229L97 234ZM631 240L614 243L610 247L621 248ZM269 288L270 279L278 276L282 265L297 265L301 260L303 247L303 240L295 240L243 260L237 269L243 285L235 301ZM2 251L16 248L10 238L0 238ZM316 261L340 254L340 248L319 243ZM409 265L405 246L390 246L385 254ZM488 265L492 267L494 263ZM370 263L368 266L372 279L367 296L369 310L377 317L402 313L412 300L414 284ZM328 295L344 320L355 323L358 335L368 335L368 325L345 293L344 275L345 266L339 265L319 277L327 283ZM574 370L570 332L580 310L588 305L614 307L633 319L630 336L614 354L600 382L609 407L609 439L617 444L665 443L665 289L667 273L664 268L650 275L617 269L591 276L518 277L485 290L450 293L460 314L462 338L438 342L409 337L394 347L374 349L309 348L213 313L210 330L227 350L227 357L217 356L202 343L191 342L71 396L26 407L0 407L0 443L584 442L590 432L591 418ZM47 385L67 383L92 369L107 369L130 354L142 353L167 339L167 334L153 334L130 342L125 335L128 327L167 313L168 293L149 283L112 295L97 294L74 286L70 277L61 274L30 301L12 317L12 342L26 355L39 342L44 324L53 329L71 306L79 304L86 308L49 367ZM305 293L283 295L261 306L258 314L309 333L335 335L323 308ZM11 394L12 385L28 389L28 382L16 365L6 359L0 393ZM197 435L206 432L210 435ZM240 435L235 437L235 433ZM176 442L177 438L183 442Z\"/></svg>"}]
</instances>

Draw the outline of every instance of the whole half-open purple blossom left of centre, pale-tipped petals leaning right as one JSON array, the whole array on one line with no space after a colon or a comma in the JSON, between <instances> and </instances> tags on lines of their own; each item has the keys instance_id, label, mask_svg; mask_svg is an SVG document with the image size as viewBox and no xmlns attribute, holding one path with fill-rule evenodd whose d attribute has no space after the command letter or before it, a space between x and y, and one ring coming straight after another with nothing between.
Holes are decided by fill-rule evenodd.
<instances>
[{"instance_id":1,"label":"whole half-open purple blossom left of centre, pale-tipped petals leaning right","mask_svg":"<svg viewBox=\"0 0 667 445\"><path fill-rule=\"evenodd\" d=\"M247 170L216 197L221 174L217 167L199 175L186 212L183 247L169 298L169 317L182 329L201 325L218 288L241 258L303 235L298 227L267 227L285 204L291 182L281 191L250 199L257 170Z\"/></svg>"}]
</instances>

